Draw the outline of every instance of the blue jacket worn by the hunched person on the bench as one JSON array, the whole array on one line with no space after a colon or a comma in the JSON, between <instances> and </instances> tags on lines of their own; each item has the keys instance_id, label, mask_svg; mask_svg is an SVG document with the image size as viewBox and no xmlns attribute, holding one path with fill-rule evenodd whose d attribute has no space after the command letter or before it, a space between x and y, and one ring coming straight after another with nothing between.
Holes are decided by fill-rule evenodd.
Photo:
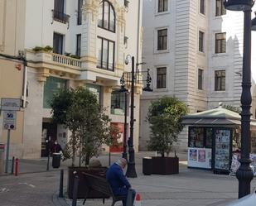
<instances>
[{"instance_id":1,"label":"blue jacket worn by the hunched person on the bench","mask_svg":"<svg viewBox=\"0 0 256 206\"><path fill-rule=\"evenodd\" d=\"M131 187L120 165L114 163L109 167L106 174L107 180L114 194L126 195Z\"/></svg>"}]
</instances>

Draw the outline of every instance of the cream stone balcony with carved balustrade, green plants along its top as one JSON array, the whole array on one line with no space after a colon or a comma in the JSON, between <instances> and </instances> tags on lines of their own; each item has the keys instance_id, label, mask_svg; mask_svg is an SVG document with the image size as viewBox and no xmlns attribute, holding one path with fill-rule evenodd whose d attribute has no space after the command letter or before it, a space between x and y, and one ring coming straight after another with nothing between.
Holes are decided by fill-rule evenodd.
<instances>
[{"instance_id":1,"label":"cream stone balcony with carved balustrade, green plants along its top","mask_svg":"<svg viewBox=\"0 0 256 206\"><path fill-rule=\"evenodd\" d=\"M51 74L76 79L81 74L81 60L46 51L26 50L28 67L37 69L38 81L44 82Z\"/></svg>"}]
</instances>

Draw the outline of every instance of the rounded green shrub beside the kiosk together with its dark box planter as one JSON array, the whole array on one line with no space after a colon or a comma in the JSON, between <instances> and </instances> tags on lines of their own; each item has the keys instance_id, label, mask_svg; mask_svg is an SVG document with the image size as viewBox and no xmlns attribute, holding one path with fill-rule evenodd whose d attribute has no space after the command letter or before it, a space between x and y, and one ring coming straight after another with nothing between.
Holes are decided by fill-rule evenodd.
<instances>
[{"instance_id":1,"label":"rounded green shrub beside the kiosk together with its dark box planter","mask_svg":"<svg viewBox=\"0 0 256 206\"><path fill-rule=\"evenodd\" d=\"M181 118L186 115L186 104L174 97L164 97L151 103L147 121L150 123L148 149L161 156L152 157L152 174L174 174L179 172L178 157L170 157L173 143L182 131Z\"/></svg>"}]
</instances>

